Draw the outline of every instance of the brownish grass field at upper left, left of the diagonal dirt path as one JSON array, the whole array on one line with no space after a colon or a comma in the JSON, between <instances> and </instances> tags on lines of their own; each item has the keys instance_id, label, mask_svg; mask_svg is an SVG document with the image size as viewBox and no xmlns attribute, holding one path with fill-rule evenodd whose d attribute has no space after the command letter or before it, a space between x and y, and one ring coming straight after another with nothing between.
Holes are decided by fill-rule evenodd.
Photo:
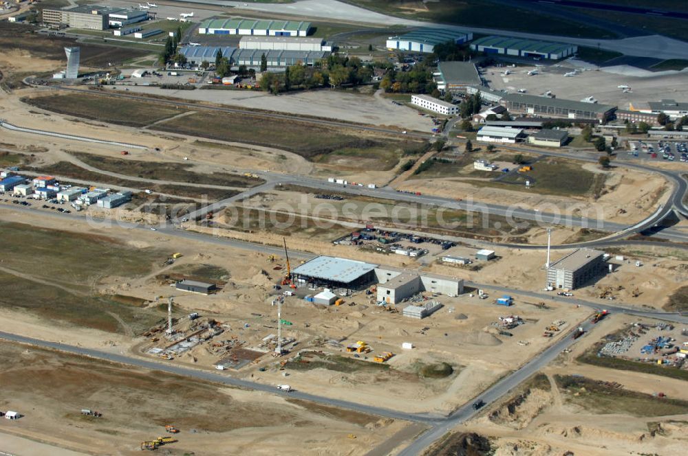
<instances>
[{"instance_id":1,"label":"brownish grass field at upper left, left of the diagonal dirt path","mask_svg":"<svg viewBox=\"0 0 688 456\"><path fill-rule=\"evenodd\" d=\"M21 101L54 113L135 127L146 126L186 112L166 104L131 102L87 93L22 98Z\"/></svg>"}]
</instances>

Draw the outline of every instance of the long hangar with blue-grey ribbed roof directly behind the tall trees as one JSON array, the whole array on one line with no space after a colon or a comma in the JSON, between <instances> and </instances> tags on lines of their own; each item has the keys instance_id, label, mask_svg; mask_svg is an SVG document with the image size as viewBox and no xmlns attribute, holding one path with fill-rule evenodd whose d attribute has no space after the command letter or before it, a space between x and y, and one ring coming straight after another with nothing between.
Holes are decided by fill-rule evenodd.
<instances>
[{"instance_id":1,"label":"long hangar with blue-grey ribbed roof directly behind the tall trees","mask_svg":"<svg viewBox=\"0 0 688 456\"><path fill-rule=\"evenodd\" d=\"M229 46L184 46L180 49L180 53L193 65L200 65L202 62L215 62L217 51L222 52L222 56L228 58L231 65L246 65L246 67L259 67L261 56L265 54L268 67L271 68L288 67L289 65L296 65L298 62L303 63L303 65L313 65L317 60L327 58L330 55L330 52L327 51L239 49Z\"/></svg>"}]
</instances>

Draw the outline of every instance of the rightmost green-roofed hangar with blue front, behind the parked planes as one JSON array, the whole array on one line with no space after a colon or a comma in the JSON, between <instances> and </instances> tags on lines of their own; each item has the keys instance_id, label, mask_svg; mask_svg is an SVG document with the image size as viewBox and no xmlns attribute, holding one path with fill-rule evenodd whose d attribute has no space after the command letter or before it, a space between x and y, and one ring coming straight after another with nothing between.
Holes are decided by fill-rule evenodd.
<instances>
[{"instance_id":1,"label":"rightmost green-roofed hangar with blue front, behind the parked planes","mask_svg":"<svg viewBox=\"0 0 688 456\"><path fill-rule=\"evenodd\" d=\"M471 49L485 54L503 54L514 57L548 58L559 60L578 51L575 45L536 41L506 36L484 36L471 43Z\"/></svg>"}]
</instances>

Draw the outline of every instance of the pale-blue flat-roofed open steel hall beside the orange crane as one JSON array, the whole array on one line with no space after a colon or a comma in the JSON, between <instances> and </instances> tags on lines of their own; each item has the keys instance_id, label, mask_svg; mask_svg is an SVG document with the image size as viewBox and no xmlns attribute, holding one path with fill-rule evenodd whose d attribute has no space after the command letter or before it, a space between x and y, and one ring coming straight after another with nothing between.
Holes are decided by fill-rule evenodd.
<instances>
[{"instance_id":1,"label":"pale-blue flat-roofed open steel hall beside the orange crane","mask_svg":"<svg viewBox=\"0 0 688 456\"><path fill-rule=\"evenodd\" d=\"M319 256L292 270L292 280L312 287L358 290L375 282L376 267L362 261Z\"/></svg>"}]
</instances>

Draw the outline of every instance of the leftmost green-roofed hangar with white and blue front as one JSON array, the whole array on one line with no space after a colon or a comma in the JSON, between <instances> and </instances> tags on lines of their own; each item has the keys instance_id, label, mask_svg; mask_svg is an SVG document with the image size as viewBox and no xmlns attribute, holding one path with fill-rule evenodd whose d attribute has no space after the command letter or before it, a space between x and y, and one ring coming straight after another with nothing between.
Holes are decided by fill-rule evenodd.
<instances>
[{"instance_id":1,"label":"leftmost green-roofed hangar with white and blue front","mask_svg":"<svg viewBox=\"0 0 688 456\"><path fill-rule=\"evenodd\" d=\"M258 19L208 19L198 27L201 35L308 36L312 27L304 21Z\"/></svg>"}]
</instances>

